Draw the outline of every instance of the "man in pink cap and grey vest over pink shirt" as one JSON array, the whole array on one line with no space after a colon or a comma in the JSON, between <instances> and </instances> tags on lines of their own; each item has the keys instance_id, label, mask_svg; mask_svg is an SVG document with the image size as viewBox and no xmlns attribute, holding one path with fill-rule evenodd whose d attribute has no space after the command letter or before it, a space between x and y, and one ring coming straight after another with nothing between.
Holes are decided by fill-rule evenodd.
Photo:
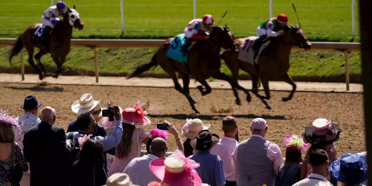
<instances>
[{"instance_id":1,"label":"man in pink cap and grey vest over pink shirt","mask_svg":"<svg viewBox=\"0 0 372 186\"><path fill-rule=\"evenodd\" d=\"M235 181L238 186L274 186L283 163L282 152L277 144L264 139L267 132L264 119L253 119L250 129L251 138L242 141L232 153Z\"/></svg>"}]
</instances>

